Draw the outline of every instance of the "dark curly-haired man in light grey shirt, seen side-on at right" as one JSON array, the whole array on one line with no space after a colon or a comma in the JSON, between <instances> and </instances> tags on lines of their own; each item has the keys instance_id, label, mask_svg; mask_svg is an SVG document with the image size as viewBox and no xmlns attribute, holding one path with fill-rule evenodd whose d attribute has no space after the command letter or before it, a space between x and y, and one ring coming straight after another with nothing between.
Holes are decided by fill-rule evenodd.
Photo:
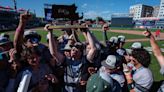
<instances>
[{"instance_id":1,"label":"dark curly-haired man in light grey shirt, seen side-on at right","mask_svg":"<svg viewBox=\"0 0 164 92\"><path fill-rule=\"evenodd\" d=\"M150 54L145 49L134 49L130 56L130 62L136 68L134 74L124 65L124 73L130 92L149 92L153 83L153 76L148 69L150 64Z\"/></svg>"}]
</instances>

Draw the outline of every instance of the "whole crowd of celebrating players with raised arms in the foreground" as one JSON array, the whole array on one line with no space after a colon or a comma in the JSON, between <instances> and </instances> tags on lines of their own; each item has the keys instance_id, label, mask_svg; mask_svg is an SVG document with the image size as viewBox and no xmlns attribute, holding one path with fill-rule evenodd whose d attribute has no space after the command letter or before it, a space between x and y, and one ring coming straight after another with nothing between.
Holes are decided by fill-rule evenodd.
<instances>
[{"instance_id":1,"label":"whole crowd of celebrating players with raised arms in the foreground","mask_svg":"<svg viewBox=\"0 0 164 92\"><path fill-rule=\"evenodd\" d=\"M77 29L63 29L57 37L47 24L47 44L34 30L25 31L31 15L20 15L14 40L0 35L0 92L150 92L153 75L151 56L142 44L135 42L130 50L123 46L123 35L108 39L104 24L103 44L85 23L80 31L86 41L80 42ZM143 35L150 43L164 75L164 56L149 30ZM164 83L158 92L164 92Z\"/></svg>"}]
</instances>

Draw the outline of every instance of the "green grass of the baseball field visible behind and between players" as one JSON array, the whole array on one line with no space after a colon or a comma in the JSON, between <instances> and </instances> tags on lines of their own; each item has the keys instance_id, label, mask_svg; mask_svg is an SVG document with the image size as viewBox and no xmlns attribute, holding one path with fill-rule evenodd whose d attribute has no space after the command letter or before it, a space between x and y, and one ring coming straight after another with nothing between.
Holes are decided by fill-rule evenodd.
<instances>
[{"instance_id":1,"label":"green grass of the baseball field visible behind and between players","mask_svg":"<svg viewBox=\"0 0 164 92\"><path fill-rule=\"evenodd\" d=\"M41 42L42 43L46 43L46 35L47 32L43 31L43 30L37 30L37 32L42 36ZM93 31L94 35L97 37L98 40L102 41L103 37L102 37L102 32L101 31ZM57 36L62 34L62 31L56 30L54 31L54 34L56 34ZM141 35L131 35L131 34L122 34L122 33L112 33L112 32L108 32L108 38L110 38L111 36L118 36L118 35L124 35L126 37L126 39L138 39L138 38L145 38L144 36ZM78 37L80 38L81 41L84 41L84 37L81 35L80 32L78 32ZM11 39L13 39L13 33L11 34ZM150 46L150 43L147 42L141 42L143 44L144 47ZM125 43L124 47L125 48L130 48L132 42L129 43ZM164 41L158 41L158 44L161 48L164 48L164 46L162 46L162 44L164 44ZM160 75L159 70L160 70L160 66L157 63L156 58L154 57L154 55L151 55L151 65L150 65L150 69L153 72L154 75L154 80L155 81L160 81L160 80L164 80L164 77L162 75Z\"/></svg>"}]
</instances>

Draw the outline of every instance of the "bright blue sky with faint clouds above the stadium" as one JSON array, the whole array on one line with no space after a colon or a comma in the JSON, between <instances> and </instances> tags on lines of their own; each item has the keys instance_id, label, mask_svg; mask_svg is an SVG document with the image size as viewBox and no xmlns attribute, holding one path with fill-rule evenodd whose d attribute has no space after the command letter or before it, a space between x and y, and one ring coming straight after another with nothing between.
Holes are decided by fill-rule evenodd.
<instances>
[{"instance_id":1,"label":"bright blue sky with faint clouds above the stadium","mask_svg":"<svg viewBox=\"0 0 164 92\"><path fill-rule=\"evenodd\" d=\"M77 12L84 13L84 18L94 19L101 16L110 19L112 13L128 13L129 7L135 4L158 6L160 0L16 0L17 8L30 9L38 17L44 17L44 4L66 4L75 3ZM0 0L0 6L14 7L13 0Z\"/></svg>"}]
</instances>

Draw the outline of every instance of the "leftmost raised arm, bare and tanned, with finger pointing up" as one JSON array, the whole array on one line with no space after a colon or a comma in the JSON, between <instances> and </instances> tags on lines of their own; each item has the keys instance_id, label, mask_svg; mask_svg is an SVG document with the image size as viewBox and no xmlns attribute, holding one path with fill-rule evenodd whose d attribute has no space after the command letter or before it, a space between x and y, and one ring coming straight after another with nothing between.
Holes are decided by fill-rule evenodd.
<instances>
[{"instance_id":1,"label":"leftmost raised arm, bare and tanned, with finger pointing up","mask_svg":"<svg viewBox=\"0 0 164 92\"><path fill-rule=\"evenodd\" d=\"M31 18L31 15L26 11L24 14L20 15L19 25L16 29L15 35L14 35L14 48L17 50L17 52L21 52L22 44L23 44L23 34L24 34L24 28L26 26L27 21Z\"/></svg>"}]
</instances>

